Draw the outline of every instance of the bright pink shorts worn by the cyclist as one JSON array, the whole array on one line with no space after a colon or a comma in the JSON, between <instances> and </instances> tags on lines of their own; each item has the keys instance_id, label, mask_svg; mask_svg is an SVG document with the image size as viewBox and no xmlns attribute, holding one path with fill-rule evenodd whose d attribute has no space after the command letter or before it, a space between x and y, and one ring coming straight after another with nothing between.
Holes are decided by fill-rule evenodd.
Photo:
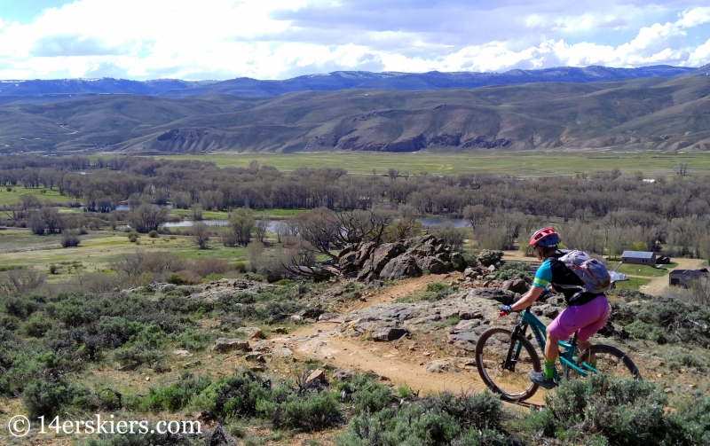
<instances>
[{"instance_id":1,"label":"bright pink shorts worn by the cyclist","mask_svg":"<svg viewBox=\"0 0 710 446\"><path fill-rule=\"evenodd\" d=\"M548 326L548 333L558 340L567 340L579 330L577 339L588 340L606 324L607 319L609 319L609 302L602 294L584 305L564 309Z\"/></svg>"}]
</instances>

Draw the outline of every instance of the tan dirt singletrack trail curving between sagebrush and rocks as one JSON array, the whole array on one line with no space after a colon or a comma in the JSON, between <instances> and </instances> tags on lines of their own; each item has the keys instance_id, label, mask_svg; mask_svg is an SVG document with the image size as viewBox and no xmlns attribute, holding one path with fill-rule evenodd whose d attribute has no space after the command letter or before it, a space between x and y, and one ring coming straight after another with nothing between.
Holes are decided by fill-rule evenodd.
<instances>
[{"instance_id":1,"label":"tan dirt singletrack trail curving between sagebrush and rocks","mask_svg":"<svg viewBox=\"0 0 710 446\"><path fill-rule=\"evenodd\" d=\"M416 291L421 291L433 282L449 281L461 276L453 273L451 276L422 276L400 280L396 285L359 301L343 310L343 314L358 309L366 309L372 305L387 304L400 297L405 297ZM343 323L343 318L318 322L303 326L288 336L272 337L274 342L283 342L294 350L297 358L317 358L325 364L345 369L359 369L372 371L380 376L387 377L392 383L399 386L410 387L421 395L438 392L482 392L485 384L478 376L472 357L457 358L468 365L461 372L426 372L424 364L436 360L446 359L446 356L436 347L423 347L414 340L396 340L392 342L363 342L355 338L344 336L338 330ZM465 361L469 361L465 363ZM541 404L544 390L540 389L526 403Z\"/></svg>"}]
</instances>

